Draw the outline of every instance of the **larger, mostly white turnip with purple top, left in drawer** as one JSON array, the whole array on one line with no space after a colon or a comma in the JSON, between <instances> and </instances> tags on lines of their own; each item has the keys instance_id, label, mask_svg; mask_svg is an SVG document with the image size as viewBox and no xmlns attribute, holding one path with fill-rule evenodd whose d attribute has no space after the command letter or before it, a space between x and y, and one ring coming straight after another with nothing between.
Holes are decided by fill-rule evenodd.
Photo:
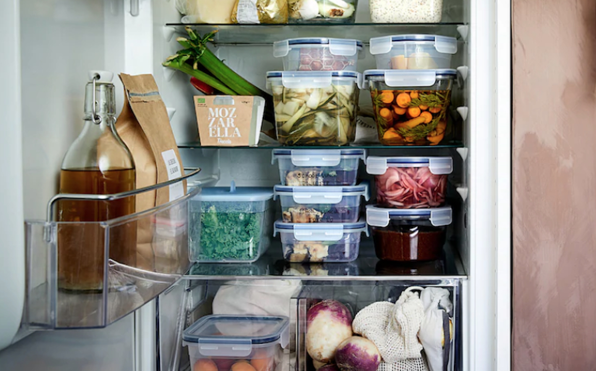
<instances>
[{"instance_id":1,"label":"larger, mostly white turnip with purple top, left in drawer","mask_svg":"<svg viewBox=\"0 0 596 371\"><path fill-rule=\"evenodd\" d=\"M352 336L352 314L335 300L324 300L306 313L306 351L314 360L328 363L345 339Z\"/></svg>"}]
</instances>

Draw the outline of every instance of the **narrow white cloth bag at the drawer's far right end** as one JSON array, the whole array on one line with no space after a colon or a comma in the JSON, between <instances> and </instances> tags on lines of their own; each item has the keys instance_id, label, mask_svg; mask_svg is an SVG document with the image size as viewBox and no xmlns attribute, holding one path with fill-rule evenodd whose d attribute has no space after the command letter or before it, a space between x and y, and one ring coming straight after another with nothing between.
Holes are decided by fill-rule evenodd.
<instances>
[{"instance_id":1,"label":"narrow white cloth bag at the drawer's far right end","mask_svg":"<svg viewBox=\"0 0 596 371\"><path fill-rule=\"evenodd\" d=\"M430 371L446 370L451 341L448 313L453 309L449 290L427 287L421 292L420 299L424 307L424 319L418 338L424 347Z\"/></svg>"}]
</instances>

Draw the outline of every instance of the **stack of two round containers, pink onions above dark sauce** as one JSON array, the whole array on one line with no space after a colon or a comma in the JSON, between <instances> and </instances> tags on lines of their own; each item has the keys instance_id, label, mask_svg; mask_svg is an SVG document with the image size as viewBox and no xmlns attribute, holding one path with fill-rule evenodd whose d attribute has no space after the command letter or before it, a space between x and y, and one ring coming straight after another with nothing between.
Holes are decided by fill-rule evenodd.
<instances>
[{"instance_id":1,"label":"stack of two round containers, pink onions above dark sauce","mask_svg":"<svg viewBox=\"0 0 596 371\"><path fill-rule=\"evenodd\" d=\"M390 261L440 259L451 224L445 206L451 157L367 157L377 205L367 206L377 257Z\"/></svg>"}]
</instances>

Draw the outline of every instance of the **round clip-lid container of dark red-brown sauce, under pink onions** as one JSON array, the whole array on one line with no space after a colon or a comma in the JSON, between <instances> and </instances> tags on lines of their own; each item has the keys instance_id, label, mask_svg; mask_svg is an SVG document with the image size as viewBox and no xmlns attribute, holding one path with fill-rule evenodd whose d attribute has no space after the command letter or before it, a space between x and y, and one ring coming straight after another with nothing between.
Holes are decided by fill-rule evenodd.
<instances>
[{"instance_id":1,"label":"round clip-lid container of dark red-brown sauce, under pink onions","mask_svg":"<svg viewBox=\"0 0 596 371\"><path fill-rule=\"evenodd\" d=\"M367 206L377 258L391 261L429 261L441 258L451 207L386 209Z\"/></svg>"}]
</instances>

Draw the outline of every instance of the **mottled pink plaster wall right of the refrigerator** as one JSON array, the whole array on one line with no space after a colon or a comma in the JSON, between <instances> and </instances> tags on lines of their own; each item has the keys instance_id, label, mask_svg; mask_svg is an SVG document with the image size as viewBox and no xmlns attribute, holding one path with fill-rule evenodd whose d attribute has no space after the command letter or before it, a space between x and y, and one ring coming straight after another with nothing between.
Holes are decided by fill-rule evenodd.
<instances>
[{"instance_id":1,"label":"mottled pink plaster wall right of the refrigerator","mask_svg":"<svg viewBox=\"0 0 596 371\"><path fill-rule=\"evenodd\" d=\"M596 0L513 0L513 370L596 370Z\"/></svg>"}]
</instances>

